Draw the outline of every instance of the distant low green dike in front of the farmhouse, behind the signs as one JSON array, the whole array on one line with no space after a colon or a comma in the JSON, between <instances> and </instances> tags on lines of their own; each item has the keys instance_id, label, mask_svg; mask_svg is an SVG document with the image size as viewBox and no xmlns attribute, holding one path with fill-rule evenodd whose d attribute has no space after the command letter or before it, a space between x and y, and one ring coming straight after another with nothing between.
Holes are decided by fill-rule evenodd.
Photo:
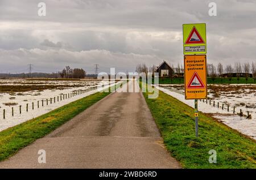
<instances>
[{"instance_id":1,"label":"distant low green dike in front of the farmhouse, behind the signs","mask_svg":"<svg viewBox=\"0 0 256 180\"><path fill-rule=\"evenodd\" d=\"M207 78L208 84L255 84L253 78ZM184 78L159 78L159 84L184 84Z\"/></svg>"}]
</instances>

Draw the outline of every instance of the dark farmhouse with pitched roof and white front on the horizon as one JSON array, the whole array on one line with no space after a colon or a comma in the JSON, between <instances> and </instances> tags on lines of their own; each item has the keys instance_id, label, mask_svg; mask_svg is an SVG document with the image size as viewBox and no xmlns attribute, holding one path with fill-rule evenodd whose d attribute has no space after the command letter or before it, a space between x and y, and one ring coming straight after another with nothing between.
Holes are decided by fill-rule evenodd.
<instances>
[{"instance_id":1,"label":"dark farmhouse with pitched roof and white front on the horizon","mask_svg":"<svg viewBox=\"0 0 256 180\"><path fill-rule=\"evenodd\" d=\"M183 69L178 72L177 68L171 67L165 60L159 66L156 66L155 72L158 72L161 78L176 78L184 75Z\"/></svg>"}]
</instances>

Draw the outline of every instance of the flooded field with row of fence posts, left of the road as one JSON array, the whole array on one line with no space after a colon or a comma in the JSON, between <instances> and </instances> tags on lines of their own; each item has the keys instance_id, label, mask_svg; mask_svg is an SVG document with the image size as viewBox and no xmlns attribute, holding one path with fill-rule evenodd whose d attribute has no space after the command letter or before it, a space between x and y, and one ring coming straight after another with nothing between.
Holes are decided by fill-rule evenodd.
<instances>
[{"instance_id":1,"label":"flooded field with row of fence posts, left of the road","mask_svg":"<svg viewBox=\"0 0 256 180\"><path fill-rule=\"evenodd\" d=\"M0 80L0 131L97 92L99 80ZM114 84L112 84L114 85Z\"/></svg>"}]
</instances>

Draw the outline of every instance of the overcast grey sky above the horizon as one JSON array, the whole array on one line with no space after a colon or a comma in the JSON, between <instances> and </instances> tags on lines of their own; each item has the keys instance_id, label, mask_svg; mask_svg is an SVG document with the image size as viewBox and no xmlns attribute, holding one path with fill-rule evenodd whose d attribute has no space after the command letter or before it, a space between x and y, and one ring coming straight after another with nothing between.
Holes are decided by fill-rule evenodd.
<instances>
[{"instance_id":1,"label":"overcast grey sky above the horizon","mask_svg":"<svg viewBox=\"0 0 256 180\"><path fill-rule=\"evenodd\" d=\"M38 16L38 3L46 16ZM209 16L209 3L217 16ZM162 59L183 64L182 24L207 23L208 63L256 57L256 0L0 0L0 72L56 72L65 65L133 72Z\"/></svg>"}]
</instances>

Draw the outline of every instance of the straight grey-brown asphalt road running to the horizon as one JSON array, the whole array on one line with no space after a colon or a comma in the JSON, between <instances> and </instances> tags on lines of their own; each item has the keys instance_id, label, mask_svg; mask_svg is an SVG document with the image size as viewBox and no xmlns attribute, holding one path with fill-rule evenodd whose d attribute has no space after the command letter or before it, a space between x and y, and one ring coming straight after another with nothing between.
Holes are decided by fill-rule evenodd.
<instances>
[{"instance_id":1,"label":"straight grey-brown asphalt road running to the horizon","mask_svg":"<svg viewBox=\"0 0 256 180\"><path fill-rule=\"evenodd\" d=\"M135 89L138 84L129 82ZM134 87L132 87L132 84ZM46 151L46 163L38 151ZM141 92L114 92L21 149L0 168L180 168L170 156Z\"/></svg>"}]
</instances>

